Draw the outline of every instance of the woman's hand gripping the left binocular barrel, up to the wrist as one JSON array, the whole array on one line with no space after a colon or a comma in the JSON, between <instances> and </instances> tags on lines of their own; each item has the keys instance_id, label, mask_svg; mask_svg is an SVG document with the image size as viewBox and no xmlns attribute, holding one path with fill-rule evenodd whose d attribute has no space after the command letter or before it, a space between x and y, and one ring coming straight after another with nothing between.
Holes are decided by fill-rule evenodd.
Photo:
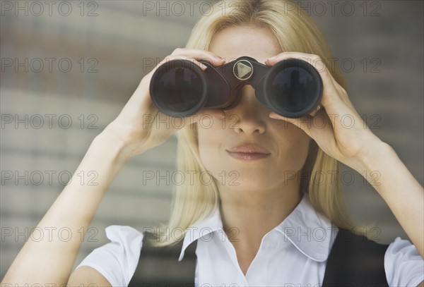
<instances>
[{"instance_id":1,"label":"woman's hand gripping the left binocular barrel, up to the wrist","mask_svg":"<svg viewBox=\"0 0 424 287\"><path fill-rule=\"evenodd\" d=\"M166 56L163 61L148 73L137 87L134 94L122 109L117 118L110 123L102 134L109 135L107 138L117 140L117 144L122 149L121 154L125 159L141 154L148 149L156 147L165 142L170 135L187 124L196 123L204 114L220 118L223 111L219 109L203 109L197 114L187 118L171 118L156 108L153 104L149 85L156 69L165 63L175 59L186 59L193 61L202 70L206 68L200 60L208 61L213 66L221 66L225 61L219 56L198 49L175 49L172 54Z\"/></svg>"}]
</instances>

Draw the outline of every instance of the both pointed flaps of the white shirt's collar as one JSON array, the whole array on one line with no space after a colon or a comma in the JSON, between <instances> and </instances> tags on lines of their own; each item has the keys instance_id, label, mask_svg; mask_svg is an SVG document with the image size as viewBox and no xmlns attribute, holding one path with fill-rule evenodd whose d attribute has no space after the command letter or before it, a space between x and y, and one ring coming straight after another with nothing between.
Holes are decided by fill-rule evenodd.
<instances>
[{"instance_id":1,"label":"both pointed flaps of the white shirt's collar","mask_svg":"<svg viewBox=\"0 0 424 287\"><path fill-rule=\"evenodd\" d=\"M188 228L178 260L182 260L184 251L194 240L201 237L208 238L211 236L210 233L220 229L223 229L223 223L219 208L216 208L211 216ZM269 233L274 231L281 233L281 236L284 236L283 240L292 243L303 255L314 261L324 262L329 256L334 231L337 231L337 228L331 226L331 221L326 216L315 211L308 196L305 195L293 212Z\"/></svg>"}]
</instances>

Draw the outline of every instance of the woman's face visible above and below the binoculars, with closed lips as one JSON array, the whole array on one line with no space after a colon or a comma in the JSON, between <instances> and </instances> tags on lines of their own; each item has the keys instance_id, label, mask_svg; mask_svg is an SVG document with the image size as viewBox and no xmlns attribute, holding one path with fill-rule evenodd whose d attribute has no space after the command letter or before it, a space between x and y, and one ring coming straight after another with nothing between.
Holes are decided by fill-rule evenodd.
<instances>
[{"instance_id":1,"label":"woman's face visible above and below the binoculars, with closed lips","mask_svg":"<svg viewBox=\"0 0 424 287\"><path fill-rule=\"evenodd\" d=\"M259 63L281 53L271 31L254 26L230 27L212 39L210 51L226 62L251 56ZM264 190L286 185L302 169L310 138L291 123L269 118L250 85L222 120L203 117L197 128L201 161L218 187Z\"/></svg>"}]
</instances>

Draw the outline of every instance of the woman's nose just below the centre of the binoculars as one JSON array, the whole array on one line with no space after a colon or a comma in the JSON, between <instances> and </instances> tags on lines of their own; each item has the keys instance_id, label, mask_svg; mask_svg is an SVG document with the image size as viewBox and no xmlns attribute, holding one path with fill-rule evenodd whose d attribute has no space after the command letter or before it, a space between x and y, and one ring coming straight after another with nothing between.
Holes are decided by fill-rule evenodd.
<instances>
[{"instance_id":1,"label":"woman's nose just below the centre of the binoculars","mask_svg":"<svg viewBox=\"0 0 424 287\"><path fill-rule=\"evenodd\" d=\"M264 109L266 108L257 100L252 86L245 85L241 88L241 93L240 102L226 112L227 116L232 119L233 125L230 128L235 133L247 135L264 133L266 128L264 121L266 112Z\"/></svg>"}]
</instances>

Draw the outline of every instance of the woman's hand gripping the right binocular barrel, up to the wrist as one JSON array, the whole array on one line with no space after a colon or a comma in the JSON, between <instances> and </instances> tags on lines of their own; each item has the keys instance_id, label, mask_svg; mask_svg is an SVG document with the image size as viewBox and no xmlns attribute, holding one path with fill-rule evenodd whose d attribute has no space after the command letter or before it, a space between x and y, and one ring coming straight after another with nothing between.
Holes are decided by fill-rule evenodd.
<instances>
[{"instance_id":1,"label":"woman's hand gripping the right binocular barrel, up to the wrist","mask_svg":"<svg viewBox=\"0 0 424 287\"><path fill-rule=\"evenodd\" d=\"M353 107L346 90L336 80L317 55L283 52L266 61L268 66L284 59L302 59L317 69L324 85L322 102L324 109L301 118L286 118L271 112L271 118L293 123L307 133L330 157L356 171L363 170L363 160L381 140L367 127Z\"/></svg>"}]
</instances>

